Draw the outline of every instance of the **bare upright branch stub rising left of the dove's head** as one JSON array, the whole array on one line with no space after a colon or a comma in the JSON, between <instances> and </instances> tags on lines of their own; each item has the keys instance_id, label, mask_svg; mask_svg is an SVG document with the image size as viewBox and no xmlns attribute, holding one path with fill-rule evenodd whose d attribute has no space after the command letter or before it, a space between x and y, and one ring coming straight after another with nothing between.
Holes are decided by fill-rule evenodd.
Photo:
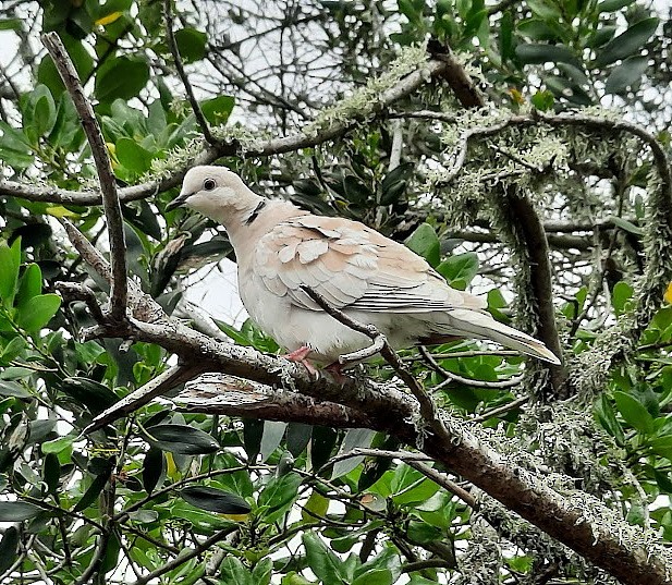
<instances>
[{"instance_id":1,"label":"bare upright branch stub rising left of the dove's head","mask_svg":"<svg viewBox=\"0 0 672 585\"><path fill-rule=\"evenodd\" d=\"M63 84L72 97L82 121L82 127L91 148L94 161L96 162L110 240L110 264L112 267L110 318L122 319L125 317L126 312L126 243L124 240L121 205L108 149L94 109L84 95L84 88L80 82L77 71L61 39L56 33L47 33L42 35L42 42L47 47L49 54L51 54L51 59L63 80Z\"/></svg>"}]
</instances>

